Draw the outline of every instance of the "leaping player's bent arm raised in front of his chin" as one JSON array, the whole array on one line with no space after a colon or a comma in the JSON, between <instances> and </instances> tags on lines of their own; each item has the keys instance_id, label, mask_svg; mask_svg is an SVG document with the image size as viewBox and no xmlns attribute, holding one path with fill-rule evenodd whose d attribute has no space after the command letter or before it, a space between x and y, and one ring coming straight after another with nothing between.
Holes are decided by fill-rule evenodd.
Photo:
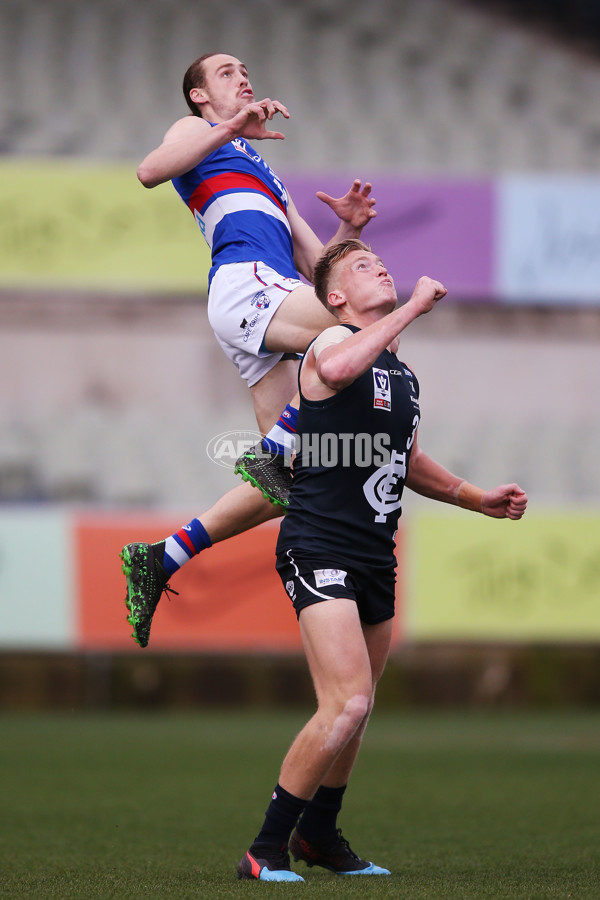
<instances>
[{"instance_id":1,"label":"leaping player's bent arm raised in front of his chin","mask_svg":"<svg viewBox=\"0 0 600 900\"><path fill-rule=\"evenodd\" d=\"M278 100L266 98L248 103L233 118L211 126L198 116L185 116L169 128L162 143L140 163L137 176L144 187L156 187L184 175L210 153L236 137L248 140L283 140L280 131L269 131L267 123L276 113L289 118Z\"/></svg>"}]
</instances>

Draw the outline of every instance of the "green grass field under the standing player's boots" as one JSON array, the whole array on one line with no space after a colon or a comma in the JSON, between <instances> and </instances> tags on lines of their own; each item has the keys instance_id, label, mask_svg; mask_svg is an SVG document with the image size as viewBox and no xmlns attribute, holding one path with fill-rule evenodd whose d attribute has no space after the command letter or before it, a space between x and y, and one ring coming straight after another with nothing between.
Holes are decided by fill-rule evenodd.
<instances>
[{"instance_id":1,"label":"green grass field under the standing player's boots","mask_svg":"<svg viewBox=\"0 0 600 900\"><path fill-rule=\"evenodd\" d=\"M390 878L239 882L300 713L10 715L0 895L600 897L600 714L374 715L341 824Z\"/></svg>"}]
</instances>

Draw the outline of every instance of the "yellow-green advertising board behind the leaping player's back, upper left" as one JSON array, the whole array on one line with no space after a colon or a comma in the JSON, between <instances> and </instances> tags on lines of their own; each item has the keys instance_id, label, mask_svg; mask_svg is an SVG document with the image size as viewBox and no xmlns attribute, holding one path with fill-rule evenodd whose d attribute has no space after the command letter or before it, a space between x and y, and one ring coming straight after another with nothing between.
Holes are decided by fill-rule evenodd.
<instances>
[{"instance_id":1,"label":"yellow-green advertising board behind the leaping player's back, upper left","mask_svg":"<svg viewBox=\"0 0 600 900\"><path fill-rule=\"evenodd\" d=\"M210 254L171 184L135 163L0 163L0 289L205 293Z\"/></svg>"}]
</instances>

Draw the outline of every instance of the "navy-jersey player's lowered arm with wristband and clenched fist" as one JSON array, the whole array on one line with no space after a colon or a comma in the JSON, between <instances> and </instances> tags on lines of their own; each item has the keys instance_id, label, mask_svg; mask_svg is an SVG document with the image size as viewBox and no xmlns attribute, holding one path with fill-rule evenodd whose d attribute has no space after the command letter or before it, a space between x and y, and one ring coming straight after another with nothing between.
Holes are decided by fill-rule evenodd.
<instances>
[{"instance_id":1,"label":"navy-jersey player's lowered arm with wristband and clenched fist","mask_svg":"<svg viewBox=\"0 0 600 900\"><path fill-rule=\"evenodd\" d=\"M501 484L484 491L459 478L413 444L406 486L417 494L483 513L494 519L520 519L527 508L527 494L518 484Z\"/></svg>"}]
</instances>

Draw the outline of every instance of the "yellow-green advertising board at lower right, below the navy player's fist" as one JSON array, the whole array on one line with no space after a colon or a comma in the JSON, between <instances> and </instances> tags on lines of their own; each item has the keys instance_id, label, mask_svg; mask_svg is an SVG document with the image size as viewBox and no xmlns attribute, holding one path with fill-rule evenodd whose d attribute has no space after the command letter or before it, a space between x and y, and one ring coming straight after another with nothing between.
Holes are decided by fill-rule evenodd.
<instances>
[{"instance_id":1,"label":"yellow-green advertising board at lower right, below the navy player's fist","mask_svg":"<svg viewBox=\"0 0 600 900\"><path fill-rule=\"evenodd\" d=\"M419 513L407 529L407 637L597 641L600 515Z\"/></svg>"}]
</instances>

